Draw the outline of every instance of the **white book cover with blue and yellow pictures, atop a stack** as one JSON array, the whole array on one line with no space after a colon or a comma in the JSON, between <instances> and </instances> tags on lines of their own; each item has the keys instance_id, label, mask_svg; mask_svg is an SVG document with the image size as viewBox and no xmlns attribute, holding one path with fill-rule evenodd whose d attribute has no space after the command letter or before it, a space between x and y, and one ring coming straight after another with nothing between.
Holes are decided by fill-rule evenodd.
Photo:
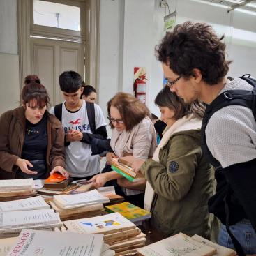
<instances>
[{"instance_id":1,"label":"white book cover with blue and yellow pictures, atop a stack","mask_svg":"<svg viewBox=\"0 0 256 256\"><path fill-rule=\"evenodd\" d=\"M136 226L120 213L110 213L92 218L64 221L64 225L71 231L80 234L111 234Z\"/></svg>"}]
</instances>

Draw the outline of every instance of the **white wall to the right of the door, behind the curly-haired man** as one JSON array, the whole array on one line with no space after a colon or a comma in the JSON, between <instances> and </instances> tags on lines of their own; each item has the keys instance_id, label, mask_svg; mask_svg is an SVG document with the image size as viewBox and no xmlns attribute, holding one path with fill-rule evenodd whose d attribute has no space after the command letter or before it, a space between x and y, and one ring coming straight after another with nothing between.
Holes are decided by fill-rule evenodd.
<instances>
[{"instance_id":1,"label":"white wall to the right of the door, behind the curly-haired man","mask_svg":"<svg viewBox=\"0 0 256 256\"><path fill-rule=\"evenodd\" d=\"M229 75L252 73L256 76L256 16L208 5L202 1L176 1L177 23L186 20L207 22L219 35L225 34L228 59L234 62ZM133 93L133 67L146 68L146 105L159 114L153 103L163 86L163 72L154 56L154 47L163 38L163 17L167 8L160 0L100 1L100 84L99 103L105 103L117 91ZM175 1L167 0L170 12ZM118 24L119 22L119 24Z\"/></svg>"}]
</instances>

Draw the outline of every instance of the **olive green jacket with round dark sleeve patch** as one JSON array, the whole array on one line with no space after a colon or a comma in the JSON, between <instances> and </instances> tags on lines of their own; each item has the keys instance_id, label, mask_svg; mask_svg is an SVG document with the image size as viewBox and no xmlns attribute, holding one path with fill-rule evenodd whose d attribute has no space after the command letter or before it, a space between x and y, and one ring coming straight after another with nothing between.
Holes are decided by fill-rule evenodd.
<instances>
[{"instance_id":1,"label":"olive green jacket with round dark sleeve patch","mask_svg":"<svg viewBox=\"0 0 256 256\"><path fill-rule=\"evenodd\" d=\"M213 194L213 168L202 156L200 130L171 135L159 163L146 160L141 172L155 195L151 223L166 236L179 232L209 238L207 202Z\"/></svg>"}]
</instances>

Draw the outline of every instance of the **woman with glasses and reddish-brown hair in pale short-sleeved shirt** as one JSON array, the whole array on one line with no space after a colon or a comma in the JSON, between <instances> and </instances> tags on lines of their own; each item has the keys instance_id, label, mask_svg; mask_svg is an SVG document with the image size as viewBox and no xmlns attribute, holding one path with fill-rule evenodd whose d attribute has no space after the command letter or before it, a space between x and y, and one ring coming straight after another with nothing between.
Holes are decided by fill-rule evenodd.
<instances>
[{"instance_id":1,"label":"woman with glasses and reddish-brown hair in pale short-sleeved shirt","mask_svg":"<svg viewBox=\"0 0 256 256\"><path fill-rule=\"evenodd\" d=\"M113 151L107 153L107 164L112 164L112 158L122 156L151 158L156 149L156 133L146 105L128 93L117 93L107 103L107 112L112 128L110 146ZM91 181L96 187L101 187L115 179L123 188L127 201L143 207L144 179L130 182L115 171L110 171L94 176Z\"/></svg>"}]
</instances>

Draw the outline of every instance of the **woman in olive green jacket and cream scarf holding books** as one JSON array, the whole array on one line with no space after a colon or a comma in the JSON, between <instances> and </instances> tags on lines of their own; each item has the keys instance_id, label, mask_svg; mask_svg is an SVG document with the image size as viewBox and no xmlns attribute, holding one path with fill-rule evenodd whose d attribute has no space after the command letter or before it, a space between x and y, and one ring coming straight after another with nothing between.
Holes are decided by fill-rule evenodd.
<instances>
[{"instance_id":1,"label":"woman in olive green jacket and cream scarf holding books","mask_svg":"<svg viewBox=\"0 0 256 256\"><path fill-rule=\"evenodd\" d=\"M153 158L133 168L147 179L145 209L151 224L165 236L179 232L209 239L207 202L213 194L213 168L202 155L200 128L204 105L186 104L169 86L155 99L167 124Z\"/></svg>"}]
</instances>

